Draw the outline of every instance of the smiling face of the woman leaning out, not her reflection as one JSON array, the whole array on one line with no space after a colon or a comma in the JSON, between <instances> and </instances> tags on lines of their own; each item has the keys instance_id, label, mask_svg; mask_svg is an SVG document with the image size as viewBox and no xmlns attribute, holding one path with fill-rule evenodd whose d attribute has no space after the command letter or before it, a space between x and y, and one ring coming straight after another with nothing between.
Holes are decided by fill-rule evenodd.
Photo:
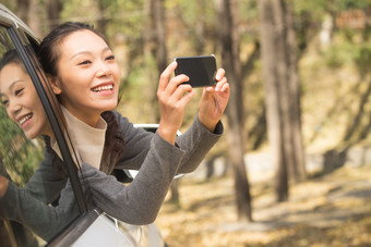
<instances>
[{"instance_id":1,"label":"smiling face of the woman leaning out, not her reflection","mask_svg":"<svg viewBox=\"0 0 371 247\"><path fill-rule=\"evenodd\" d=\"M77 119L95 126L118 103L120 69L106 41L91 30L74 32L58 48L55 92Z\"/></svg>"}]
</instances>

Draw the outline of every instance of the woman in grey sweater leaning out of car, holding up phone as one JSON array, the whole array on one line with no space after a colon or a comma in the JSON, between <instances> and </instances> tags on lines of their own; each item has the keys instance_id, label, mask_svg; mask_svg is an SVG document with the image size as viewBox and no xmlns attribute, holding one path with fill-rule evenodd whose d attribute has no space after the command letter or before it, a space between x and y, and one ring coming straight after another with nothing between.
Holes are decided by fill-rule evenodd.
<instances>
[{"instance_id":1,"label":"woman in grey sweater leaning out of car, holding up phone","mask_svg":"<svg viewBox=\"0 0 371 247\"><path fill-rule=\"evenodd\" d=\"M173 175L192 172L223 133L219 120L229 98L224 71L218 71L215 87L204 89L192 126L177 137L184 109L194 92L190 85L180 85L188 81L187 76L170 78L176 63L160 76L157 96L161 116L157 133L152 134L134 128L128 119L112 111L118 103L120 70L107 41L92 27L81 23L62 24L43 40L39 53L61 103L74 148L81 155L81 174L89 184L94 203L123 222L152 223ZM7 111L14 120L19 118L14 109L7 108ZM36 114L25 116L27 135L37 122ZM50 202L60 195L67 181L56 169L62 160L52 133L39 134L50 137L46 157L25 189L35 198ZM123 186L109 175L115 169L140 172L129 186ZM40 177L48 187L41 188L45 182L40 182ZM38 189L47 189L48 197L41 198ZM5 192L3 198L7 196L11 197ZM71 205L62 199L72 200L64 196L60 207Z\"/></svg>"}]
</instances>

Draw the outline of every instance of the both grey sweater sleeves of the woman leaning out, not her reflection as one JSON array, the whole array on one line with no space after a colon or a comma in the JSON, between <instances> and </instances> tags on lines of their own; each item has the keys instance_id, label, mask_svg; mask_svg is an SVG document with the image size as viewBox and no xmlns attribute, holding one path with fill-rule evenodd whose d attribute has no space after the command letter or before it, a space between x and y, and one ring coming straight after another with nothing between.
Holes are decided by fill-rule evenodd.
<instances>
[{"instance_id":1,"label":"both grey sweater sleeves of the woman leaning out, not her reflection","mask_svg":"<svg viewBox=\"0 0 371 247\"><path fill-rule=\"evenodd\" d=\"M88 164L82 171L94 201L108 214L130 224L152 223L160 209L176 173L193 171L223 133L207 131L196 118L177 145L164 140L158 133L135 129L125 119L123 158L116 168L136 168L139 173L128 186L118 183Z\"/></svg>"}]
</instances>

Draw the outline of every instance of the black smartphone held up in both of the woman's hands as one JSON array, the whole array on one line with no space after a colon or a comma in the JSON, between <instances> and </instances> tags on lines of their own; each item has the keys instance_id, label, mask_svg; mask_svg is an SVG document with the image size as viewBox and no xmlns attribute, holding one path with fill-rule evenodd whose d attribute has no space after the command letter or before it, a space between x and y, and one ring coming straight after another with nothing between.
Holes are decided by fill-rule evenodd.
<instances>
[{"instance_id":1,"label":"black smartphone held up in both of the woman's hands","mask_svg":"<svg viewBox=\"0 0 371 247\"><path fill-rule=\"evenodd\" d=\"M210 87L216 84L216 60L213 54L179 57L173 60L178 63L175 74L190 77L190 81L184 84L190 84L192 87Z\"/></svg>"}]
</instances>

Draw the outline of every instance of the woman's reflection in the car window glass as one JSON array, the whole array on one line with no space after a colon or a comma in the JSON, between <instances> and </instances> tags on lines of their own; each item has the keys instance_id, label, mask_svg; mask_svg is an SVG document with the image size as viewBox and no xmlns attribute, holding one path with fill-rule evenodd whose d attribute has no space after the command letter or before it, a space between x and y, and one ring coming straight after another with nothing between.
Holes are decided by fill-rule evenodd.
<instances>
[{"instance_id":1,"label":"woman's reflection in the car window glass","mask_svg":"<svg viewBox=\"0 0 371 247\"><path fill-rule=\"evenodd\" d=\"M21 127L27 138L36 138L41 135L53 138L40 99L16 50L9 50L2 55L0 62L0 96L8 115ZM14 152L13 156L22 157L22 153L19 152L22 151L24 144L26 144L26 139L23 139L20 134L15 134L10 140L11 148L9 150ZM35 146L38 146L37 143L35 144ZM33 156L32 153L27 155ZM23 159L22 162L27 160ZM28 182L20 189L16 184L23 186L24 183L20 183L19 174L16 174L19 171L14 161L11 159L5 162L4 166L9 173L0 174L0 218L21 222L39 236L49 239L79 213L71 187L64 189L65 195L72 199L69 200L70 206L63 207L64 212L56 213L46 203L52 202L59 194L48 195L45 193L44 187L48 185L45 184L43 177L38 180L37 184ZM26 164L21 168L26 168ZM37 177L37 175L34 174L34 177ZM27 182L28 178L24 178L24 181ZM65 180L64 176L64 183ZM33 185L33 187L29 187L29 185ZM64 184L60 183L57 189L60 192L63 187ZM48 222L55 224L47 226Z\"/></svg>"}]
</instances>

